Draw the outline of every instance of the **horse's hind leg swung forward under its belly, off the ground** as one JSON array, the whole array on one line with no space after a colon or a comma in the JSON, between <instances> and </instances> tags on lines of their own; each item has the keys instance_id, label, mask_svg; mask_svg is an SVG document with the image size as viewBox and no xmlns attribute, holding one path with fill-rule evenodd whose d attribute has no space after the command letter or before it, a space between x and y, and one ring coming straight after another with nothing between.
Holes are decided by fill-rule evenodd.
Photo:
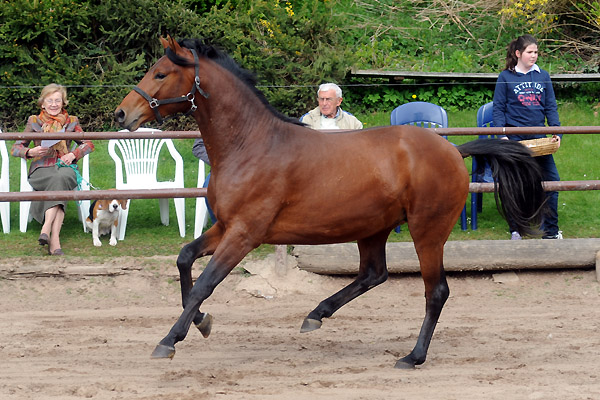
<instances>
[{"instance_id":1,"label":"horse's hind leg swung forward under its belly, off the ground","mask_svg":"<svg viewBox=\"0 0 600 400\"><path fill-rule=\"evenodd\" d=\"M358 241L360 268L356 279L348 286L323 300L308 314L300 332L310 332L321 327L322 319L333 315L340 307L367 290L385 282L388 276L385 261L385 244L389 231Z\"/></svg>"}]
</instances>

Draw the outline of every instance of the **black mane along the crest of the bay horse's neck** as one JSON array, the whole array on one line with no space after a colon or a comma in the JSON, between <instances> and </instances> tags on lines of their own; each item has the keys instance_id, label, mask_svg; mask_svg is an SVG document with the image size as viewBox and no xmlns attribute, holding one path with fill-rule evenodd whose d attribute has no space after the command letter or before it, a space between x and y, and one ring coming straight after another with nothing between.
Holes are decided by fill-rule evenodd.
<instances>
[{"instance_id":1,"label":"black mane along the crest of the bay horse's neck","mask_svg":"<svg viewBox=\"0 0 600 400\"><path fill-rule=\"evenodd\" d=\"M281 119L282 121L289 122L292 124L303 125L303 126L305 125L302 122L300 122L298 119L288 117L287 115L283 115L278 110L276 110L266 99L263 92L261 92L256 87L256 83L257 83L256 76L252 72L240 67L233 60L233 58L231 58L225 52L221 51L220 49L218 49L217 47L215 47L213 45L204 43L204 41L202 41L200 39L181 39L181 40L178 40L177 43L179 43L179 45L181 47L195 50L196 53L198 54L198 57L200 57L200 58L206 57L210 60L215 61L221 67L225 68L226 70L231 72L233 75L238 77L242 82L244 82L252 90L252 92L256 95L256 97L258 97L258 99L267 107L267 109L275 117ZM167 48L166 56L169 58L169 60L171 60L173 63L175 63L177 65L186 65L186 66L193 65L193 63L191 63L189 60L175 54L175 52L173 50L171 50L170 48Z\"/></svg>"}]
</instances>

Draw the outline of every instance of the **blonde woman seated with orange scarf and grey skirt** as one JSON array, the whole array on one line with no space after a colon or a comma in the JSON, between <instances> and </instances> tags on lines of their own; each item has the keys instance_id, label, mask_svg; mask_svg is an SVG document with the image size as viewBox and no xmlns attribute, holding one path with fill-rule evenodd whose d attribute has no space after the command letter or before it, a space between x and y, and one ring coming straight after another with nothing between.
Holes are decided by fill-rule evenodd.
<instances>
[{"instance_id":1,"label":"blonde woman seated with orange scarf and grey skirt","mask_svg":"<svg viewBox=\"0 0 600 400\"><path fill-rule=\"evenodd\" d=\"M27 120L24 132L83 132L77 117L65 110L67 90L64 86L51 83L42 89L38 105L42 111ZM11 153L15 157L31 159L29 183L34 190L73 190L77 187L77 174L70 165L94 151L89 140L75 140L77 146L71 148L71 140L56 143L46 140L17 140ZM71 149L71 150L69 150ZM75 165L75 168L77 166ZM60 229L65 217L66 200L45 200L31 203L30 213L42 224L38 238L41 246L48 246L51 255L64 255L60 245Z\"/></svg>"}]
</instances>

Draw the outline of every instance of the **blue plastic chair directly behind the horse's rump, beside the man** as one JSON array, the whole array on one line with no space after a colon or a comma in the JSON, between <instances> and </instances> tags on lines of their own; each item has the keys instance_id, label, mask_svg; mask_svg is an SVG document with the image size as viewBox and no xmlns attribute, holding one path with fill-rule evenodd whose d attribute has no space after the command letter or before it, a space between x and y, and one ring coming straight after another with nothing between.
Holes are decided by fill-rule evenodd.
<instances>
[{"instance_id":1,"label":"blue plastic chair directly behind the horse's rump, beside the man","mask_svg":"<svg viewBox=\"0 0 600 400\"><path fill-rule=\"evenodd\" d=\"M415 125L422 128L447 128L448 114L443 107L424 101L414 101L402 104L392 111L390 117L391 125ZM446 136L444 136L445 139ZM467 206L460 214L460 226L463 231L467 230ZM400 232L400 227L396 227Z\"/></svg>"}]
</instances>

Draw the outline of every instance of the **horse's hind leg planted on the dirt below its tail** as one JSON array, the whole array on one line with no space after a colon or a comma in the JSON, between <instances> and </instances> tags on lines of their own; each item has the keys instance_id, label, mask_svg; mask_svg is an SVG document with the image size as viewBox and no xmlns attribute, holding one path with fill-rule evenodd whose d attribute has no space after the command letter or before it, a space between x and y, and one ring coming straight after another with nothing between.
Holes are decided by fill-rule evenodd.
<instances>
[{"instance_id":1,"label":"horse's hind leg planted on the dirt below its tail","mask_svg":"<svg viewBox=\"0 0 600 400\"><path fill-rule=\"evenodd\" d=\"M425 362L427 350L433 336L433 331L450 295L443 266L443 246L419 246L415 248L421 264L421 275L425 283L425 319L419 332L419 338L414 349L406 357L396 362L396 368L410 369Z\"/></svg>"}]
</instances>

